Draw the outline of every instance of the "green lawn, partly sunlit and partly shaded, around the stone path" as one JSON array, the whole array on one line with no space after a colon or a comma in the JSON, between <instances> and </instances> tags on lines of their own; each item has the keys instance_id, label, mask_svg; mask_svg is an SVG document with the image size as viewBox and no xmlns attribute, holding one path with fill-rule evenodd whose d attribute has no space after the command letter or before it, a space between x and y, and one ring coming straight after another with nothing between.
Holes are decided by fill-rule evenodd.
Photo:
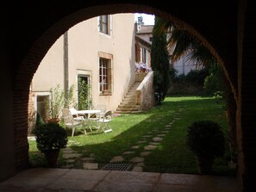
<instances>
[{"instance_id":1,"label":"green lawn, partly sunlit and partly shaded, around the stone path","mask_svg":"<svg viewBox=\"0 0 256 192\"><path fill-rule=\"evenodd\" d=\"M157 136L165 131L165 126L173 123L171 131L153 152L145 158L144 171L197 174L197 162L193 153L185 145L186 127L193 121L214 120L228 135L228 122L224 115L225 103L213 97L179 96L166 97L157 108L134 115L115 116L110 125L111 133L77 134L69 137L68 146L83 153L83 157L94 154L97 163L106 164L114 156L130 151L132 146L147 134ZM179 119L179 118L180 119ZM70 133L69 133L70 135ZM146 138L147 139L147 138ZM152 139L148 139L148 141ZM141 149L146 144L139 144ZM228 146L228 145L227 145ZM141 150L135 151L137 155ZM229 152L223 158L215 158L214 175L234 175L235 170L228 167ZM46 166L37 151L35 141L29 141L29 158L32 166ZM129 156L125 156L128 161ZM59 164L64 159L59 157Z\"/></svg>"}]
</instances>

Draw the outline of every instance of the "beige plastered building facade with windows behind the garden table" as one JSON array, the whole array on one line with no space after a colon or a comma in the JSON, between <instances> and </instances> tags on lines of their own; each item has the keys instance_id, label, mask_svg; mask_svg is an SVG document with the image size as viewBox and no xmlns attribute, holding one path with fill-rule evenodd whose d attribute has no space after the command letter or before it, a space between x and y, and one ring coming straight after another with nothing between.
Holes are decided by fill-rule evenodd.
<instances>
[{"instance_id":1,"label":"beige plastered building facade with windows behind the garden table","mask_svg":"<svg viewBox=\"0 0 256 192\"><path fill-rule=\"evenodd\" d=\"M57 84L64 90L74 85L78 102L78 77L90 86L91 108L104 104L115 111L135 81L134 45L134 14L101 15L73 26L55 41L34 74L35 111Z\"/></svg>"}]
</instances>

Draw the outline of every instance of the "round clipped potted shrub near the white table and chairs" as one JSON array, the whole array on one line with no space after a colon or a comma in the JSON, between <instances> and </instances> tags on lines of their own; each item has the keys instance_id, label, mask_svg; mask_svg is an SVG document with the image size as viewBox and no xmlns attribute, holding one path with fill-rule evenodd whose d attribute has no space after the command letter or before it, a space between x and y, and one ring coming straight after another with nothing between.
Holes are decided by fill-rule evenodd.
<instances>
[{"instance_id":1,"label":"round clipped potted shrub near the white table and chairs","mask_svg":"<svg viewBox=\"0 0 256 192\"><path fill-rule=\"evenodd\" d=\"M45 154L47 164L50 167L57 165L59 150L66 148L66 130L57 123L47 122L34 129L36 146Z\"/></svg>"}]
</instances>

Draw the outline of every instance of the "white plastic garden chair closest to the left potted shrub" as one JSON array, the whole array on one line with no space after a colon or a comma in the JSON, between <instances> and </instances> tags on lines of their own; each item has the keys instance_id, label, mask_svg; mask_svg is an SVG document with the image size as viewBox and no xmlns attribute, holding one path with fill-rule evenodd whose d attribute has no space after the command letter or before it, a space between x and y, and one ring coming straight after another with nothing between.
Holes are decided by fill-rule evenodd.
<instances>
[{"instance_id":1,"label":"white plastic garden chair closest to the left potted shrub","mask_svg":"<svg viewBox=\"0 0 256 192\"><path fill-rule=\"evenodd\" d=\"M65 127L72 128L72 137L74 136L76 127L82 127L84 129L84 134L86 134L86 130L83 126L83 123L84 123L83 117L74 118L70 108L62 108L62 116L63 116Z\"/></svg>"}]
</instances>

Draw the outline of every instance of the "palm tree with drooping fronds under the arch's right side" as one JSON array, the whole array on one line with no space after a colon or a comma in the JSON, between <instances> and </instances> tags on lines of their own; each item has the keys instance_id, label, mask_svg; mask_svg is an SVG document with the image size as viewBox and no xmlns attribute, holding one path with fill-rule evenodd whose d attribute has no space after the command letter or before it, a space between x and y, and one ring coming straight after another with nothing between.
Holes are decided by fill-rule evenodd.
<instances>
[{"instance_id":1,"label":"palm tree with drooping fronds under the arch's right side","mask_svg":"<svg viewBox=\"0 0 256 192\"><path fill-rule=\"evenodd\" d=\"M196 36L190 34L185 28L181 28L170 20L158 18L155 22L153 30L155 33L168 34L167 46L169 50L173 50L172 62L178 61L182 56L187 61L196 63L197 66L211 67L218 65L215 57L209 52L209 49L203 45L202 41L198 40ZM227 103L228 115L228 130L229 130L229 146L231 160L233 161L233 153L236 152L236 125L235 125L235 111L236 103L234 95L231 91L230 84L227 77L222 73L223 83L226 85L224 89L224 98Z\"/></svg>"}]
</instances>

